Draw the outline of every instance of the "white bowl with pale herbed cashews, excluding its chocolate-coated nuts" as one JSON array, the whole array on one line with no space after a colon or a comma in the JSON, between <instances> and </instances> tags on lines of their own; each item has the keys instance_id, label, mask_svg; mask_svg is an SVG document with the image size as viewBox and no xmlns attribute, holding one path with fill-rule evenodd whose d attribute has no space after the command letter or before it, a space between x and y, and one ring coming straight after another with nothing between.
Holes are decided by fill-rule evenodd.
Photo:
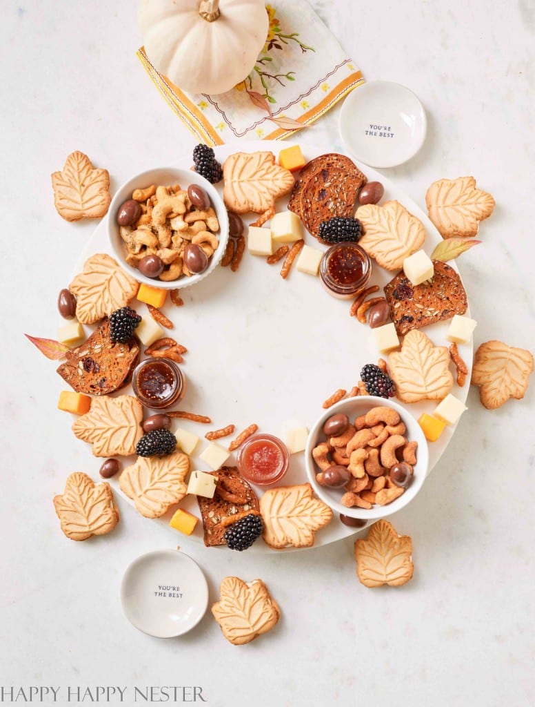
<instances>
[{"instance_id":1,"label":"white bowl with pale herbed cashews, excluding its chocolate-coated nuts","mask_svg":"<svg viewBox=\"0 0 535 707\"><path fill-rule=\"evenodd\" d=\"M169 187L176 185L180 189L175 193ZM192 206L185 196L190 185L208 195L209 215L209 209ZM130 200L140 204L140 213L131 225L120 226L117 216ZM207 216L201 216L203 211ZM124 271L138 282L171 290L196 284L215 270L227 247L229 216L217 189L204 177L189 169L162 167L131 177L117 190L109 206L107 231L114 257ZM208 256L208 267L202 272L185 274L183 255L188 243L195 243ZM140 259L149 255L163 262L160 276L148 276L138 268Z\"/></svg>"}]
</instances>

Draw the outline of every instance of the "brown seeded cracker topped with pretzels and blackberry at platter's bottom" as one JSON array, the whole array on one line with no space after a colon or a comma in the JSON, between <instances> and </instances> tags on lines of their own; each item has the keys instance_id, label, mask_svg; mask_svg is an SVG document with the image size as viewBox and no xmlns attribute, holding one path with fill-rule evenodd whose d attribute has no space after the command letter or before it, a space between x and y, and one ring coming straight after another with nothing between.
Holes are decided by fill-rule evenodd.
<instances>
[{"instance_id":1,"label":"brown seeded cracker topped with pretzels and blackberry at platter's bottom","mask_svg":"<svg viewBox=\"0 0 535 707\"><path fill-rule=\"evenodd\" d=\"M224 532L232 516L246 511L258 513L258 498L236 467L221 467L207 473L217 477L214 497L197 496L197 502L203 519L205 545L214 547L227 543Z\"/></svg>"}]
</instances>

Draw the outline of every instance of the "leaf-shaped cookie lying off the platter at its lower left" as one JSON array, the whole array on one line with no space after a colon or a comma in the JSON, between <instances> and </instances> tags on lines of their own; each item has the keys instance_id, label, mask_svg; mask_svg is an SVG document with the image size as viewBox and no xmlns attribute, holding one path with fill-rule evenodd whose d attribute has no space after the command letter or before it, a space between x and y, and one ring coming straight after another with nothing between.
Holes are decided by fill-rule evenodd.
<instances>
[{"instance_id":1,"label":"leaf-shaped cookie lying off the platter at its lower left","mask_svg":"<svg viewBox=\"0 0 535 707\"><path fill-rule=\"evenodd\" d=\"M71 540L104 535L119 522L119 510L109 484L95 484L82 472L67 477L63 496L54 498L54 508L61 530Z\"/></svg>"}]
</instances>

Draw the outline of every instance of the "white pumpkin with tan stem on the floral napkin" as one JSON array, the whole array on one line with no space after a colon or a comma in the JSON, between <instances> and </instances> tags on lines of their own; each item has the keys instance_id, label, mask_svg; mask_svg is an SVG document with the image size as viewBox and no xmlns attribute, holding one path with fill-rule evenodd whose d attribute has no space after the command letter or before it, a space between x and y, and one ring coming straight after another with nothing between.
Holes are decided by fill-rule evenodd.
<instances>
[{"instance_id":1,"label":"white pumpkin with tan stem on the floral napkin","mask_svg":"<svg viewBox=\"0 0 535 707\"><path fill-rule=\"evenodd\" d=\"M179 88L224 93L251 73L268 35L264 0L141 0L150 62Z\"/></svg>"}]
</instances>

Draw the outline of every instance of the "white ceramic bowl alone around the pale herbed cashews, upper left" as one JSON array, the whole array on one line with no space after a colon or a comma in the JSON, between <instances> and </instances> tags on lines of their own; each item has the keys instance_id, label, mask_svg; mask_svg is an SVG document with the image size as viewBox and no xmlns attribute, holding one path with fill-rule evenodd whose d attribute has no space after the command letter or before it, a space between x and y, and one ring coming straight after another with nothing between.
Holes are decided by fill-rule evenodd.
<instances>
[{"instance_id":1,"label":"white ceramic bowl alone around the pale herbed cashews, upper left","mask_svg":"<svg viewBox=\"0 0 535 707\"><path fill-rule=\"evenodd\" d=\"M208 268L204 272L197 275L192 275L191 277L182 276L179 279L164 282L163 280L157 278L145 277L137 268L132 267L125 261L124 257L126 255L126 250L119 233L119 226L117 226L115 219L119 206L121 206L121 204L123 204L127 199L132 198L132 192L134 189L143 189L151 184L164 184L168 186L176 182L181 185L182 189L187 189L190 184L196 184L203 187L205 192L210 197L210 201L212 202L217 219L220 222L220 231L217 233L217 238L220 243L210 258ZM119 189L117 189L108 209L107 233L109 245L112 248L117 262L119 262L119 265L126 273L131 275L138 282L164 290L172 290L174 288L183 289L185 287L191 287L192 285L195 285L205 279L205 277L213 272L220 263L227 247L227 241L229 240L229 216L219 192L217 192L215 186L210 184L210 182L208 182L208 180L204 177L201 177L196 172L189 169L179 167L156 167L134 175L124 182Z\"/></svg>"}]
</instances>

